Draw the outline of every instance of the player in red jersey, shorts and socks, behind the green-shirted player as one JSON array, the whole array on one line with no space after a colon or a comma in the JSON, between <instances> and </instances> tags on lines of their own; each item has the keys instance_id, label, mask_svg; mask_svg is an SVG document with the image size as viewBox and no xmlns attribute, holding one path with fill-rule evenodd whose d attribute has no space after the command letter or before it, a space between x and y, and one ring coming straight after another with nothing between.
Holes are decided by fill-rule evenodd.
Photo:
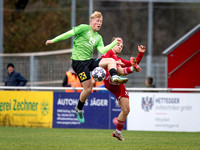
<instances>
[{"instance_id":1,"label":"player in red jersey, shorts and socks, behind the green-shirted player","mask_svg":"<svg viewBox=\"0 0 200 150\"><path fill-rule=\"evenodd\" d=\"M142 45L139 45L138 56L136 58L131 57L130 61L127 61L118 56L118 54L122 52L122 48L123 48L123 40L121 41L122 42L117 44L113 49L109 50L107 53L102 55L101 58L113 58L116 61L122 62L124 66L122 65L117 66L118 74L127 75L130 73L133 73L134 71L139 72L141 68L138 66L138 64L142 60L142 57L145 52L145 47ZM121 112L118 116L117 127L116 127L116 130L112 133L112 136L116 137L118 140L123 141L124 138L121 135L121 130L126 122L126 118L130 111L129 95L124 84L116 84L116 83L111 82L111 77L108 72L108 69L107 68L105 69L106 69L106 78L104 79L105 88L107 88L111 93L115 95L121 107Z\"/></svg>"}]
</instances>

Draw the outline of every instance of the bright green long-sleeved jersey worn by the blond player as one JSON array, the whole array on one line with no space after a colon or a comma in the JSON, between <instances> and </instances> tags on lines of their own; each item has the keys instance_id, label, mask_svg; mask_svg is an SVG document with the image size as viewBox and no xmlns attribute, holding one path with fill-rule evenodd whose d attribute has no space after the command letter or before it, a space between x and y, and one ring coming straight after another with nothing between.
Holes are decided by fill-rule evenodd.
<instances>
[{"instance_id":1,"label":"bright green long-sleeved jersey worn by the blond player","mask_svg":"<svg viewBox=\"0 0 200 150\"><path fill-rule=\"evenodd\" d=\"M95 47L101 54L104 54L117 44L116 41L113 41L111 44L104 47L101 35L94 32L92 27L86 24L73 27L72 30L55 37L52 41L55 43L72 36L76 36L73 41L72 60L90 60Z\"/></svg>"}]
</instances>

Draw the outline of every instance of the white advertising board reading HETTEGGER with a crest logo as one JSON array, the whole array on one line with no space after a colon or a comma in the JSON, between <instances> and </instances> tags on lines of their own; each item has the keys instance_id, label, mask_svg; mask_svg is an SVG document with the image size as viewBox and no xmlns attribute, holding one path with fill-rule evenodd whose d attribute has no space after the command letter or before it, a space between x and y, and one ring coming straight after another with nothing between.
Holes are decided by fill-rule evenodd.
<instances>
[{"instance_id":1,"label":"white advertising board reading HETTEGGER with a crest logo","mask_svg":"<svg viewBox=\"0 0 200 150\"><path fill-rule=\"evenodd\" d=\"M130 92L127 130L200 131L199 93Z\"/></svg>"}]
</instances>

